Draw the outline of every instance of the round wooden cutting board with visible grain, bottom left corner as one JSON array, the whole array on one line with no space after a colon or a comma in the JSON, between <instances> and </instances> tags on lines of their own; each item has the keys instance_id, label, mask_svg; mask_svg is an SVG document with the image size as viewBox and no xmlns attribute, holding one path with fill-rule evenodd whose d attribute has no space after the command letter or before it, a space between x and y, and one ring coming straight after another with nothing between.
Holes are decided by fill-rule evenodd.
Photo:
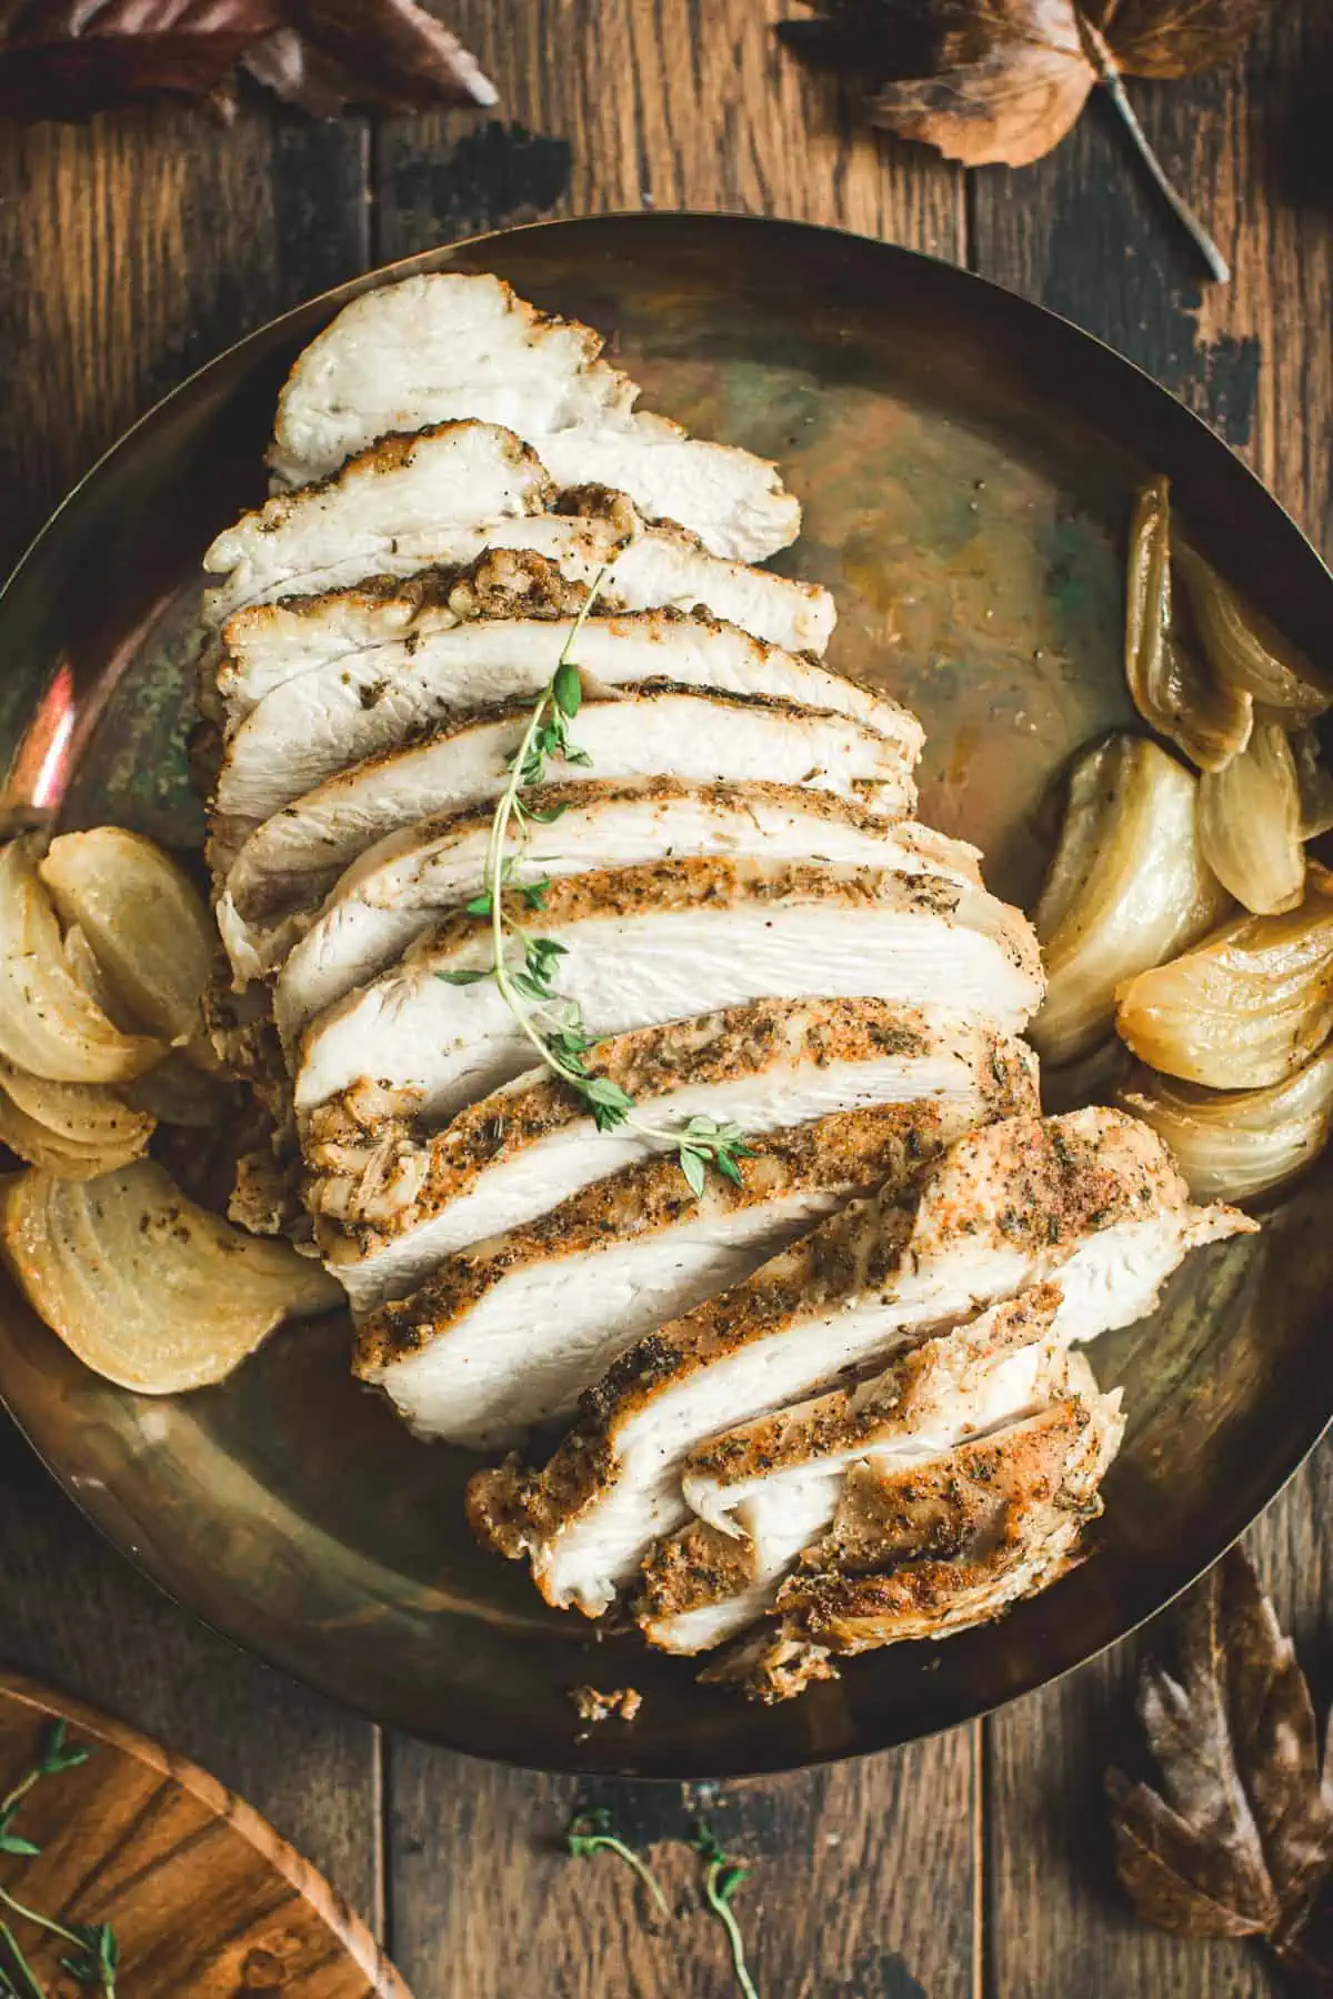
<instances>
[{"instance_id":1,"label":"round wooden cutting board with visible grain, bottom left corner","mask_svg":"<svg viewBox=\"0 0 1333 1999\"><path fill-rule=\"evenodd\" d=\"M184 1757L134 1729L0 1673L0 1797L62 1715L86 1763L42 1777L0 1855L0 1885L60 1921L112 1923L116 1999L412 1999L366 1925L286 1839ZM0 1909L50 1999L86 1999L64 1945Z\"/></svg>"}]
</instances>

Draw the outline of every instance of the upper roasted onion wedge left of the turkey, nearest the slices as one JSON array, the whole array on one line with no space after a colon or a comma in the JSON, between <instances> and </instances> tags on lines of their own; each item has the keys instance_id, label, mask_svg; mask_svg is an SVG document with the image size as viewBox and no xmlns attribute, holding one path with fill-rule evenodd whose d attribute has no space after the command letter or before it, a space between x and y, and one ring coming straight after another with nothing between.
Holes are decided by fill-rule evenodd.
<instances>
[{"instance_id":1,"label":"upper roasted onion wedge left of the turkey, nearest the slices","mask_svg":"<svg viewBox=\"0 0 1333 1999\"><path fill-rule=\"evenodd\" d=\"M120 826L62 834L40 874L62 922L92 946L116 1007L164 1041L196 1035L218 938L190 876Z\"/></svg>"}]
</instances>

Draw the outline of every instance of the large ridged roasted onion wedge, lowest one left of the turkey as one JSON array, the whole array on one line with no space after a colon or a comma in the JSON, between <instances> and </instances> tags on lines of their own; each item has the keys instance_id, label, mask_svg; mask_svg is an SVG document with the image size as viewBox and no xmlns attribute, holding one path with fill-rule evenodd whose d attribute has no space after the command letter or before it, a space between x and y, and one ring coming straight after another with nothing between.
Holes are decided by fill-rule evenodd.
<instances>
[{"instance_id":1,"label":"large ridged roasted onion wedge, lowest one left of the turkey","mask_svg":"<svg viewBox=\"0 0 1333 1999\"><path fill-rule=\"evenodd\" d=\"M222 1381L282 1319L342 1303L318 1263L196 1207L150 1159L80 1183L16 1175L0 1251L52 1331L142 1395Z\"/></svg>"}]
</instances>

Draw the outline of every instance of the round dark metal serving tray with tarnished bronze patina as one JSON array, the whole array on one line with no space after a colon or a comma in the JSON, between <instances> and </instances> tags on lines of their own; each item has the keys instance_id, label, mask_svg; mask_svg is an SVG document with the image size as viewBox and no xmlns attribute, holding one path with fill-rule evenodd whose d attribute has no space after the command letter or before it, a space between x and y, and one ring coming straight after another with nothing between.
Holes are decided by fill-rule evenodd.
<instances>
[{"instance_id":1,"label":"round dark metal serving tray with tarnished bronze patina","mask_svg":"<svg viewBox=\"0 0 1333 1999\"><path fill-rule=\"evenodd\" d=\"M590 320L646 406L781 462L805 504L781 568L839 606L831 662L927 728L921 814L1029 902L1041 802L1127 720L1129 500L1179 514L1293 640L1333 578L1277 502L1161 388L1063 320L903 250L785 222L556 222L394 266L288 314L168 396L60 508L0 598L6 824L104 820L174 846L190 796L192 616L210 536L262 494L298 348L408 270L494 270ZM941 996L947 998L947 996ZM470 1463L414 1443L348 1375L348 1327L280 1333L220 1389L144 1399L86 1373L12 1293L0 1393L106 1535L238 1643L478 1755L717 1777L879 1749L1041 1685L1181 1589L1273 1497L1333 1411L1333 1229L1319 1175L1257 1239L1205 1251L1159 1313L1099 1341L1129 1431L1091 1559L1003 1623L853 1661L787 1707L544 1609L462 1517ZM568 1689L632 1683L632 1727L580 1741Z\"/></svg>"}]
</instances>

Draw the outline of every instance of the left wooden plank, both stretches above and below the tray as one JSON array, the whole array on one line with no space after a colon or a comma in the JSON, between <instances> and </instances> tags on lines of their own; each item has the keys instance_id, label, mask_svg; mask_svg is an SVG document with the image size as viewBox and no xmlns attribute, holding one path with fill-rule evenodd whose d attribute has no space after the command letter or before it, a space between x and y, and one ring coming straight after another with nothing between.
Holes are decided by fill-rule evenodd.
<instances>
[{"instance_id":1,"label":"left wooden plank, both stretches above and below the tray","mask_svg":"<svg viewBox=\"0 0 1333 1999\"><path fill-rule=\"evenodd\" d=\"M0 562L156 396L364 268L366 134L252 106L0 124ZM362 1913L380 1905L378 1737L174 1609L0 1435L10 1665L242 1791Z\"/></svg>"}]
</instances>

